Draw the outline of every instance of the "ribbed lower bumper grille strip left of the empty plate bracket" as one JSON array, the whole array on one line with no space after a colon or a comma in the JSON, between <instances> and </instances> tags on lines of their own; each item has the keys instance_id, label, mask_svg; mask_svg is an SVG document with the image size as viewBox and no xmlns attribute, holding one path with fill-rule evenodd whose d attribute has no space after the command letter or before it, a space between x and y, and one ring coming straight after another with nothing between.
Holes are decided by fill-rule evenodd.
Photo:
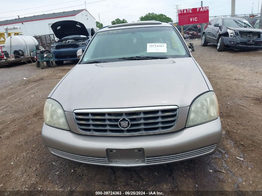
<instances>
[{"instance_id":1,"label":"ribbed lower bumper grille strip left of the empty plate bracket","mask_svg":"<svg viewBox=\"0 0 262 196\"><path fill-rule=\"evenodd\" d=\"M108 163L107 157L91 157L91 156L83 156L83 155L75 155L68 152L64 152L61 150L56 150L51 147L47 147L51 154L62 157L64 159L69 159L71 161L76 161L80 163Z\"/></svg>"}]
</instances>

